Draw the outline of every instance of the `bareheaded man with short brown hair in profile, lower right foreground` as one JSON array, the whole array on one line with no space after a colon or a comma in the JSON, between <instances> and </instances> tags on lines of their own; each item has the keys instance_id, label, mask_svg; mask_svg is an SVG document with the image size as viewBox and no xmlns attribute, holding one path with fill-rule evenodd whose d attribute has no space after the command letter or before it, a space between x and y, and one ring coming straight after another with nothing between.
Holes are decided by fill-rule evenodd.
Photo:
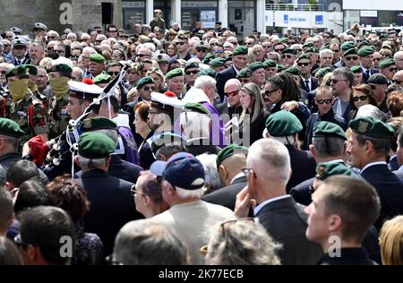
<instances>
[{"instance_id":1,"label":"bareheaded man with short brown hair in profile, lower right foreground","mask_svg":"<svg viewBox=\"0 0 403 283\"><path fill-rule=\"evenodd\" d=\"M305 208L306 236L321 244L325 253L318 264L376 265L362 240L380 210L380 199L372 185L353 176L327 178L313 193L313 203Z\"/></svg>"}]
</instances>

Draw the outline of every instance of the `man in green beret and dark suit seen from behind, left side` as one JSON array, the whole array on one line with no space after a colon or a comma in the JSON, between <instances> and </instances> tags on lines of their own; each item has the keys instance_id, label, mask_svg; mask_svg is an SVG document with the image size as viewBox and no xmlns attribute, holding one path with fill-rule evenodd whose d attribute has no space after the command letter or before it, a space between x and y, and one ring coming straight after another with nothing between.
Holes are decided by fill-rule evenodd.
<instances>
[{"instance_id":1,"label":"man in green beret and dark suit seen from behind, left side","mask_svg":"<svg viewBox=\"0 0 403 283\"><path fill-rule=\"evenodd\" d=\"M99 236L105 254L112 253L116 234L125 223L142 218L130 192L133 184L107 174L109 155L115 146L104 133L83 133L75 159L82 169L77 182L87 192L91 205L84 218L85 229Z\"/></svg>"}]
</instances>

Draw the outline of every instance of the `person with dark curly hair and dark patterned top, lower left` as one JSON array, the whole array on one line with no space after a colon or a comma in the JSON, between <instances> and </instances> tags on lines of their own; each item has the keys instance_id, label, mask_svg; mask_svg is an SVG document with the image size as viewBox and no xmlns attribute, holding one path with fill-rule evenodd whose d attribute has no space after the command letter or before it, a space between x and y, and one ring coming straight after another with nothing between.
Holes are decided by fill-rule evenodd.
<instances>
[{"instance_id":1,"label":"person with dark curly hair and dark patterned top, lower left","mask_svg":"<svg viewBox=\"0 0 403 283\"><path fill-rule=\"evenodd\" d=\"M103 244L96 234L84 232L83 218L90 209L85 190L69 175L64 175L57 176L47 184L47 192L55 205L66 211L75 224L77 238L72 263L74 265L100 264L104 257Z\"/></svg>"}]
</instances>

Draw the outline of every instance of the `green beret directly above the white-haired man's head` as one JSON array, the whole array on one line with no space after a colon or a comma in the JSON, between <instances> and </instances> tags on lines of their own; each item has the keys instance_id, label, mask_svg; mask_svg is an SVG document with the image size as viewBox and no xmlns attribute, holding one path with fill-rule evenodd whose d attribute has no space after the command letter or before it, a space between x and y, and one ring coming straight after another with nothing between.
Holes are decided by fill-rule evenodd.
<instances>
[{"instance_id":1,"label":"green beret directly above the white-haired man's head","mask_svg":"<svg viewBox=\"0 0 403 283\"><path fill-rule=\"evenodd\" d=\"M303 129L301 122L291 112L280 110L266 119L266 130L273 137L285 137L299 133Z\"/></svg>"}]
</instances>

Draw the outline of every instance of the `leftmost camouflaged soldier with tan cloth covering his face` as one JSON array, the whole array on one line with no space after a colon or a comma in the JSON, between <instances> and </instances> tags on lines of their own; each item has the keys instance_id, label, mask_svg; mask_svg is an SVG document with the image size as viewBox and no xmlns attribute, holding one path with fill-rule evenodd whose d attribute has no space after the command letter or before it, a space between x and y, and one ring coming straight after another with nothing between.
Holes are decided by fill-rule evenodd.
<instances>
[{"instance_id":1,"label":"leftmost camouflaged soldier with tan cloth covering his face","mask_svg":"<svg viewBox=\"0 0 403 283\"><path fill-rule=\"evenodd\" d=\"M47 141L49 132L47 108L39 99L35 98L28 88L30 78L28 68L25 65L19 65L9 69L5 73L5 78L8 81L8 88L12 96L11 105L6 108L5 117L19 124L25 133L21 136L21 145L36 135Z\"/></svg>"}]
</instances>

